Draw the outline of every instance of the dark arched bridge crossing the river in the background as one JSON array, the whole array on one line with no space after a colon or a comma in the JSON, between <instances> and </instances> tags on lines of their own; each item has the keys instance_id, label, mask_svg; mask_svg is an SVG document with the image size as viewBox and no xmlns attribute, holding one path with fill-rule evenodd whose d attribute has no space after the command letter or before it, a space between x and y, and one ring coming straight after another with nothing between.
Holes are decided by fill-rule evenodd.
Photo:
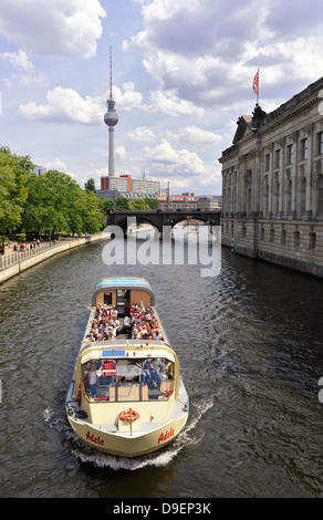
<instances>
[{"instance_id":1,"label":"dark arched bridge crossing the river in the background","mask_svg":"<svg viewBox=\"0 0 323 520\"><path fill-rule=\"evenodd\" d=\"M220 226L220 210L213 211L202 211L202 210L185 210L180 209L177 211L164 210L160 209L147 209L147 210L110 210L107 212L107 225L108 226L118 226L126 233L128 218L135 218L136 223L147 222L154 226L159 232L163 232L163 226L174 227L178 222L185 220L199 220L209 226Z\"/></svg>"}]
</instances>

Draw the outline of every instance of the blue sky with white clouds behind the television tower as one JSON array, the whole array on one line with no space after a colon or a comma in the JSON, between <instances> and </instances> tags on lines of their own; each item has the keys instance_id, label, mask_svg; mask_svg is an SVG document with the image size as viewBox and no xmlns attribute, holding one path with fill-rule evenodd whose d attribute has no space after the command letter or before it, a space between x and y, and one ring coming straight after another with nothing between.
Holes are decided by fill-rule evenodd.
<instances>
[{"instance_id":1,"label":"blue sky with white clouds behind the television tower","mask_svg":"<svg viewBox=\"0 0 323 520\"><path fill-rule=\"evenodd\" d=\"M0 145L96 188L108 173L221 194L241 115L323 75L322 0L1 0Z\"/></svg>"}]
</instances>

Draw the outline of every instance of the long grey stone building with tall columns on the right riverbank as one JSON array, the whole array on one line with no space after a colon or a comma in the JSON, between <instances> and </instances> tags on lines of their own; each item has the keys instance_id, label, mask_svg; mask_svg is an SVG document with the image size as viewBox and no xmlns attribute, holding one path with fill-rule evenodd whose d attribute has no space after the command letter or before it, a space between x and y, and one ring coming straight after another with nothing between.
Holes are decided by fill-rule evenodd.
<instances>
[{"instance_id":1,"label":"long grey stone building with tall columns on the right riverbank","mask_svg":"<svg viewBox=\"0 0 323 520\"><path fill-rule=\"evenodd\" d=\"M237 125L219 159L222 243L323 277L323 77Z\"/></svg>"}]
</instances>

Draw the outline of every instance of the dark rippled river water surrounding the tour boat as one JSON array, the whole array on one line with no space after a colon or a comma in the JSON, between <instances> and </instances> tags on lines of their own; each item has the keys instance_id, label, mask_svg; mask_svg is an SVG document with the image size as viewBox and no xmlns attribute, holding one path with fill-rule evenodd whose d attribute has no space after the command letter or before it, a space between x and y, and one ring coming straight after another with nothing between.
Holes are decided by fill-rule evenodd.
<instances>
[{"instance_id":1,"label":"dark rippled river water surrounding the tour boat","mask_svg":"<svg viewBox=\"0 0 323 520\"><path fill-rule=\"evenodd\" d=\"M323 281L222 249L221 271L105 266L104 242L0 285L1 497L323 497ZM147 278L190 397L138 459L72 434L64 399L100 278Z\"/></svg>"}]
</instances>

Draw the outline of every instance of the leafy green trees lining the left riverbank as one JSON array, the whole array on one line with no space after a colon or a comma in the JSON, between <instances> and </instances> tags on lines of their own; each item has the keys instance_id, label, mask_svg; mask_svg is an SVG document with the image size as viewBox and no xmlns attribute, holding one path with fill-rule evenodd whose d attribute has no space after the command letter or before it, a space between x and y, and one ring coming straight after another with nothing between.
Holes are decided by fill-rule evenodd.
<instances>
[{"instance_id":1,"label":"leafy green trees lining the left riverbank","mask_svg":"<svg viewBox=\"0 0 323 520\"><path fill-rule=\"evenodd\" d=\"M0 240L18 231L35 235L94 233L104 227L104 205L69 175L38 176L29 156L0 148Z\"/></svg>"}]
</instances>

